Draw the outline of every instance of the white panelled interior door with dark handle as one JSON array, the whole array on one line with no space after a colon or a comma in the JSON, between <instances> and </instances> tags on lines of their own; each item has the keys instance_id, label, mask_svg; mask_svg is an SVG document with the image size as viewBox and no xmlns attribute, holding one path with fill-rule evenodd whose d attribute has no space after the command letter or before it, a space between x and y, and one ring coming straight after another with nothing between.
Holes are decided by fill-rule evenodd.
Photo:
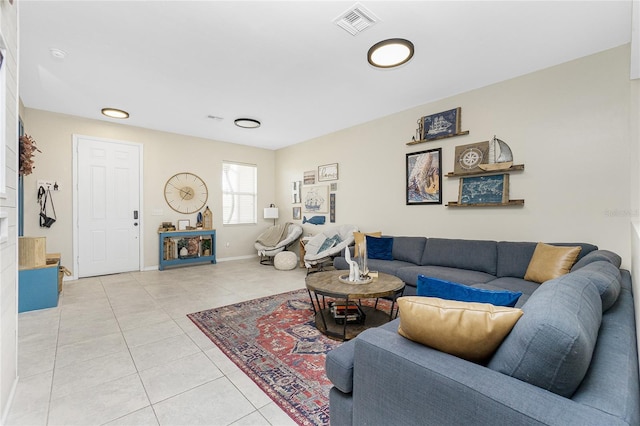
<instances>
[{"instance_id":1,"label":"white panelled interior door with dark handle","mask_svg":"<svg viewBox=\"0 0 640 426\"><path fill-rule=\"evenodd\" d=\"M141 146L75 136L78 277L140 270Z\"/></svg>"}]
</instances>

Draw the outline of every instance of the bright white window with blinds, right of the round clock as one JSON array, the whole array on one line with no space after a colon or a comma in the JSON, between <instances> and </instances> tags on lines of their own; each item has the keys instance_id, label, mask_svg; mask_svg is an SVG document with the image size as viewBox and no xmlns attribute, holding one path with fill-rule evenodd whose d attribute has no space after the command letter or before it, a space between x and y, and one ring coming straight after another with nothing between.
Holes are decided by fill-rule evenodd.
<instances>
[{"instance_id":1,"label":"bright white window with blinds, right of the round clock","mask_svg":"<svg viewBox=\"0 0 640 426\"><path fill-rule=\"evenodd\" d=\"M222 223L257 223L258 167L252 164L222 163Z\"/></svg>"}]
</instances>

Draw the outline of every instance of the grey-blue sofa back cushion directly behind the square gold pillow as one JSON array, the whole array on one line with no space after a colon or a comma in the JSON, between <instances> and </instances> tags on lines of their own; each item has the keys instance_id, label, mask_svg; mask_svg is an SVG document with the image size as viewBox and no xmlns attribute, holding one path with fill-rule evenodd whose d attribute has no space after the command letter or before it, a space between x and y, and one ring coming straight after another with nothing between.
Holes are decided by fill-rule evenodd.
<instances>
[{"instance_id":1,"label":"grey-blue sofa back cushion directly behind the square gold pillow","mask_svg":"<svg viewBox=\"0 0 640 426\"><path fill-rule=\"evenodd\" d=\"M588 253L597 250L598 247L586 243L550 243L554 246L580 246L578 261ZM498 277L524 278L524 274L529 267L529 261L536 249L537 243L500 241L498 242Z\"/></svg>"}]
</instances>

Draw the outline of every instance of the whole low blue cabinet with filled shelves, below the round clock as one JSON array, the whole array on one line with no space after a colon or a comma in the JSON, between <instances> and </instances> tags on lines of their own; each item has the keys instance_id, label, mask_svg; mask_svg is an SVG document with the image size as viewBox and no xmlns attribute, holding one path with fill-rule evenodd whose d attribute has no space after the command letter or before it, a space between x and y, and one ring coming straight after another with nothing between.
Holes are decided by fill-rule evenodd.
<instances>
[{"instance_id":1,"label":"whole low blue cabinet with filled shelves, below the round clock","mask_svg":"<svg viewBox=\"0 0 640 426\"><path fill-rule=\"evenodd\" d=\"M192 263L216 263L216 230L159 232L158 269Z\"/></svg>"}]
</instances>

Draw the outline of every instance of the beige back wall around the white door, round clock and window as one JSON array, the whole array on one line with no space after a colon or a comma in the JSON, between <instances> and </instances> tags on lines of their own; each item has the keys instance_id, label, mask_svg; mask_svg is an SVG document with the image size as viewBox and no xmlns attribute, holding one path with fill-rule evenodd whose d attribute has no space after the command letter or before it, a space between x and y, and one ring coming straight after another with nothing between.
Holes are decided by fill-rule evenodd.
<instances>
[{"instance_id":1,"label":"beige back wall around the white door, round clock and window","mask_svg":"<svg viewBox=\"0 0 640 426\"><path fill-rule=\"evenodd\" d=\"M190 171L200 176L209 189L207 204L214 214L217 229L218 259L255 255L255 237L266 229L262 208L272 203L274 194L274 151L229 144L201 138L152 131L122 124L89 120L69 115L25 108L25 132L31 135L42 153L35 158L34 173L24 181L24 234L47 237L47 251L60 252L62 264L70 267L72 259L72 143L73 135L93 136L143 145L144 197L142 226L144 232L143 269L158 265L158 226L163 221L174 224L178 219L196 215L181 215L169 208L164 199L164 185L173 174ZM258 224L222 226L222 161L241 161L258 166ZM57 221L50 228L40 228L37 203L38 179L54 180L60 186L53 193ZM154 210L162 210L154 215ZM226 246L229 243L229 247Z\"/></svg>"}]
</instances>

